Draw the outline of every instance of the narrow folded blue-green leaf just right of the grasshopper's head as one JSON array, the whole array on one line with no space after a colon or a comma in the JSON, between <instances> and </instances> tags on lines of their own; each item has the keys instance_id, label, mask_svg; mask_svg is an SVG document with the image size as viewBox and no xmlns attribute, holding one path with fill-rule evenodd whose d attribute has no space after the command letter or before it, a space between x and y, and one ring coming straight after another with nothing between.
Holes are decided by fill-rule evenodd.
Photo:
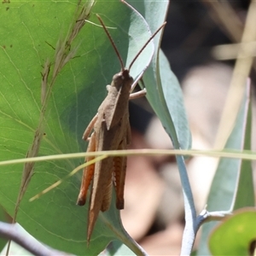
<instances>
[{"instance_id":1,"label":"narrow folded blue-green leaf just right of the grasshopper's head","mask_svg":"<svg viewBox=\"0 0 256 256\"><path fill-rule=\"evenodd\" d=\"M156 31L166 20L165 15L159 14L166 11L169 5L167 1L131 3L148 21L152 32ZM172 138L174 148L187 149L191 147L191 134L183 105L183 92L176 76L172 73L169 61L159 50L160 38L161 33L154 38L156 45L154 58L143 75L143 81L147 88L147 98L166 132Z\"/></svg>"}]
</instances>

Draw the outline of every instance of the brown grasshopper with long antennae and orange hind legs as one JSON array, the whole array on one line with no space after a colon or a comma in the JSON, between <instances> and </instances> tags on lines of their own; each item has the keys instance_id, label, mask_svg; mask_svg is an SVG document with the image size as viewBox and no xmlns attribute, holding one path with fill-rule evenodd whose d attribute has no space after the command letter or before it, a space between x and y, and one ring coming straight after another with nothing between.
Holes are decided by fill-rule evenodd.
<instances>
[{"instance_id":1,"label":"brown grasshopper with long antennae and orange hind legs","mask_svg":"<svg viewBox=\"0 0 256 256\"><path fill-rule=\"evenodd\" d=\"M100 20L104 31L113 45L114 51L118 55L122 69L120 73L113 76L111 85L107 85L108 96L106 96L98 108L98 113L96 113L96 116L90 121L90 124L84 131L83 139L85 141L89 140L87 152L126 149L127 145L131 142L128 102L130 99L144 96L145 90L131 94L137 81L134 82L131 78L130 69L138 55L141 54L157 32L166 24L164 23L154 32L133 61L131 61L130 67L126 69L101 17L97 15L97 18ZM94 131L90 136L92 130ZM93 159L94 157L87 157L85 160L90 161ZM116 207L119 210L124 208L125 172L126 157L119 156L108 157L84 168L77 204L79 206L85 204L87 191L92 181L88 214L88 243L90 242L90 236L99 212L107 211L110 206L113 185L116 192Z\"/></svg>"}]
</instances>

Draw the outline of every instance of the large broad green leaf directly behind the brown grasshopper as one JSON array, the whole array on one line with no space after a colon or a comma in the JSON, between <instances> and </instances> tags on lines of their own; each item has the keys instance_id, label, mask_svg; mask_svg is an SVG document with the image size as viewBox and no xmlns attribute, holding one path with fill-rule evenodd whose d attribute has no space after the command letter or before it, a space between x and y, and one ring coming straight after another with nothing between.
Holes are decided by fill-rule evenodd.
<instances>
[{"instance_id":1,"label":"large broad green leaf directly behind the brown grasshopper","mask_svg":"<svg viewBox=\"0 0 256 256\"><path fill-rule=\"evenodd\" d=\"M119 72L120 64L101 27L85 23L72 44L66 44L68 32L80 21L83 4L78 6L76 1L1 4L0 20L4 26L0 27L0 160L24 158L42 124L38 129L43 134L39 155L85 149L81 140L84 128L96 114L106 96L106 85L113 74ZM166 9L162 11L164 16ZM128 66L150 37L147 23L119 1L96 3L90 21L99 23L95 14L101 15L107 26L116 28L110 32ZM73 58L55 77L55 65L60 61L55 52L66 46L65 54L73 52ZM148 66L152 50L153 43L137 59L131 69L133 77ZM49 75L47 65L50 66ZM46 89L53 85L45 113L41 109L42 91L44 98L46 90L44 86L42 90L42 79L48 79ZM75 205L80 175L69 178L38 201L28 202L83 161L37 163L21 201L17 221L40 241L70 253L99 253L114 238L129 244L125 241L127 236L119 221L119 212L112 205L110 211L100 214L90 247L86 247L87 206ZM10 215L15 212L22 168L19 165L0 169L0 202ZM129 246L132 247L132 242Z\"/></svg>"}]
</instances>

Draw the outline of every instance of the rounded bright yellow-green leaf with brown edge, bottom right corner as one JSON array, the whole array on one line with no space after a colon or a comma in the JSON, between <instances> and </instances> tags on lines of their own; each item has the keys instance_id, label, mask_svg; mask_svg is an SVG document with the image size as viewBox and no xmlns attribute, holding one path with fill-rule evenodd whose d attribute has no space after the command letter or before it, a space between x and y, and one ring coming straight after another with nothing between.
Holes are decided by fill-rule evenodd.
<instances>
[{"instance_id":1,"label":"rounded bright yellow-green leaf with brown edge, bottom right corner","mask_svg":"<svg viewBox=\"0 0 256 256\"><path fill-rule=\"evenodd\" d=\"M212 255L254 255L256 211L245 208L234 212L212 231L209 247Z\"/></svg>"}]
</instances>

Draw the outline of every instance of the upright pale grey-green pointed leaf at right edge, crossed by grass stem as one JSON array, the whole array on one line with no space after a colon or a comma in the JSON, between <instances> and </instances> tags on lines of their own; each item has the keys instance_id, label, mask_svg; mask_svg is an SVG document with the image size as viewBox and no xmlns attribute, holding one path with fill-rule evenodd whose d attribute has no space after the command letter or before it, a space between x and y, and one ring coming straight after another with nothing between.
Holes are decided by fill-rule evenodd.
<instances>
[{"instance_id":1,"label":"upright pale grey-green pointed leaf at right edge, crossed by grass stem","mask_svg":"<svg viewBox=\"0 0 256 256\"><path fill-rule=\"evenodd\" d=\"M252 109L249 86L241 104L236 125L225 145L229 149L250 149ZM207 171L206 171L207 172ZM251 162L241 159L221 159L212 181L207 211L233 211L254 206L253 172ZM216 222L203 224L198 255L209 255L207 239Z\"/></svg>"}]
</instances>

